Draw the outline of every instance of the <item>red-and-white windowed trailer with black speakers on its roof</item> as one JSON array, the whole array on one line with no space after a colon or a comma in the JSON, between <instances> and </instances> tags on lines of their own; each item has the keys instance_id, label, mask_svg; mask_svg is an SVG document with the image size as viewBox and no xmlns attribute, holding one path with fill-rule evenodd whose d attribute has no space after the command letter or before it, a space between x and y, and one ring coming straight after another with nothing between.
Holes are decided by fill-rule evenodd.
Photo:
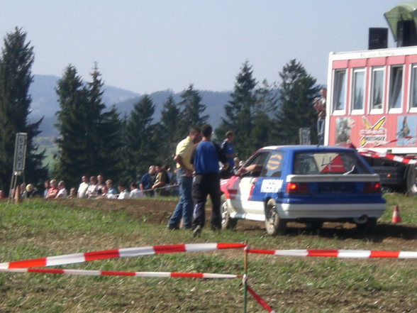
<instances>
[{"instance_id":1,"label":"red-and-white windowed trailer with black speakers on its roof","mask_svg":"<svg viewBox=\"0 0 417 313\"><path fill-rule=\"evenodd\" d=\"M355 147L382 186L417 195L417 1L384 16L396 48L369 28L368 50L329 55L324 143Z\"/></svg>"}]
</instances>

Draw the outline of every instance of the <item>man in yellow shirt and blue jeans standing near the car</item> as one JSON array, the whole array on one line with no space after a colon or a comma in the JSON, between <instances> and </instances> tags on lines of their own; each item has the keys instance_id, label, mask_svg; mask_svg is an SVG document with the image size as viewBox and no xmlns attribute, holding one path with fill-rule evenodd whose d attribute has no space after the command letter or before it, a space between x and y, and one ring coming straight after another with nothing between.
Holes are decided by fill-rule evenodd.
<instances>
[{"instance_id":1,"label":"man in yellow shirt and blue jeans standing near the car","mask_svg":"<svg viewBox=\"0 0 417 313\"><path fill-rule=\"evenodd\" d=\"M174 161L177 163L177 183L179 185L179 202L168 222L168 229L191 229L193 215L193 198L191 187L193 183L194 166L191 163L191 151L195 143L201 141L201 131L198 127L191 127L187 138L177 144Z\"/></svg>"}]
</instances>

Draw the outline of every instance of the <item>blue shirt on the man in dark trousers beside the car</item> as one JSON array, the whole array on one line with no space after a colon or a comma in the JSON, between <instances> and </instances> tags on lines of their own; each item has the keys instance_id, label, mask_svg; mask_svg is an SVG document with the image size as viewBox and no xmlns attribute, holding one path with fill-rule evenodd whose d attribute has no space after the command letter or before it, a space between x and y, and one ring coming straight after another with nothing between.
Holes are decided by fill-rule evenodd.
<instances>
[{"instance_id":1,"label":"blue shirt on the man in dark trousers beside the car","mask_svg":"<svg viewBox=\"0 0 417 313\"><path fill-rule=\"evenodd\" d=\"M194 169L196 174L207 174L217 172L218 155L214 144L211 141L201 141L194 152Z\"/></svg>"}]
</instances>

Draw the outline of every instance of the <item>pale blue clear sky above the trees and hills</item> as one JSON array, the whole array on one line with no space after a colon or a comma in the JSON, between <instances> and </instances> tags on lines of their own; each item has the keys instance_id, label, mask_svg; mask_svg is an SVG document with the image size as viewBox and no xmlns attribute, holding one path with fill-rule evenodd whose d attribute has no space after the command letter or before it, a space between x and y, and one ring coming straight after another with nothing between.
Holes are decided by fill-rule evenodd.
<instances>
[{"instance_id":1,"label":"pale blue clear sky above the trees and hills","mask_svg":"<svg viewBox=\"0 0 417 313\"><path fill-rule=\"evenodd\" d=\"M22 28L35 75L68 65L88 82L97 62L107 85L138 94L233 90L243 63L279 83L290 60L318 84L328 54L367 50L369 28L388 27L399 0L0 0L1 48ZM389 31L389 47L396 43Z\"/></svg>"}]
</instances>

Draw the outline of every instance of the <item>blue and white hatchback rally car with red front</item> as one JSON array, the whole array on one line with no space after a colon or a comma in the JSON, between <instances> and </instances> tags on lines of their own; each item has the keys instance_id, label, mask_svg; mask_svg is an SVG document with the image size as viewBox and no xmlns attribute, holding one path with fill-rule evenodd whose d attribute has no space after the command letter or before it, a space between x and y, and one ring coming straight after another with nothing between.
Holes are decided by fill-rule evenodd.
<instances>
[{"instance_id":1,"label":"blue and white hatchback rally car with red front","mask_svg":"<svg viewBox=\"0 0 417 313\"><path fill-rule=\"evenodd\" d=\"M284 233L288 221L371 230L386 208L379 175L356 150L322 145L261 148L238 175L221 180L221 192L223 229L238 219L265 221L271 235Z\"/></svg>"}]
</instances>

